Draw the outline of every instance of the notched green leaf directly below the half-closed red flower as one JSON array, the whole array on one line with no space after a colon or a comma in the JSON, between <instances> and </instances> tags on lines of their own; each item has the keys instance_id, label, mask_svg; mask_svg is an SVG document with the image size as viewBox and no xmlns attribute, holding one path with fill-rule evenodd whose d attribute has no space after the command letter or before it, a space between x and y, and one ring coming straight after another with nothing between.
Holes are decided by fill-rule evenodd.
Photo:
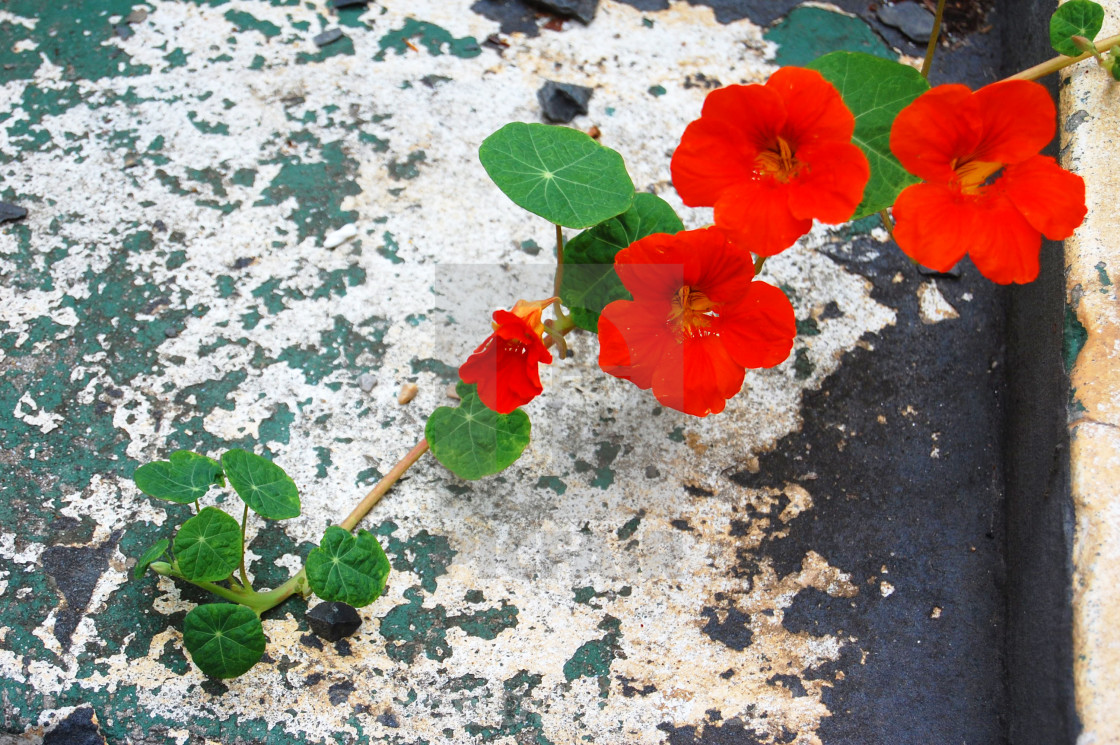
<instances>
[{"instance_id":1,"label":"notched green leaf directly below the half-closed red flower","mask_svg":"<svg viewBox=\"0 0 1120 745\"><path fill-rule=\"evenodd\" d=\"M460 478L482 478L508 467L529 445L529 415L486 408L477 387L459 383L459 406L432 411L424 427L431 454Z\"/></svg>"}]
</instances>

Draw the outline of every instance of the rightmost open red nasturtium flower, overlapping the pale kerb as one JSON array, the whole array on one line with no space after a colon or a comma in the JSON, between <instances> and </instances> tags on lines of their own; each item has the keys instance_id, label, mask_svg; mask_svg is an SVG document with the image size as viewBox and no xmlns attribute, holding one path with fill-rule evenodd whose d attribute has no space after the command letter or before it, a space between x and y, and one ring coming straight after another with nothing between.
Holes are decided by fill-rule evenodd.
<instances>
[{"instance_id":1,"label":"rightmost open red nasturtium flower, overlapping the pale kerb","mask_svg":"<svg viewBox=\"0 0 1120 745\"><path fill-rule=\"evenodd\" d=\"M890 150L925 183L895 203L898 246L940 271L968 253L993 282L1034 280L1039 234L1070 238L1085 216L1085 183L1038 155L1054 120L1049 93L1029 81L939 85L903 109Z\"/></svg>"}]
</instances>

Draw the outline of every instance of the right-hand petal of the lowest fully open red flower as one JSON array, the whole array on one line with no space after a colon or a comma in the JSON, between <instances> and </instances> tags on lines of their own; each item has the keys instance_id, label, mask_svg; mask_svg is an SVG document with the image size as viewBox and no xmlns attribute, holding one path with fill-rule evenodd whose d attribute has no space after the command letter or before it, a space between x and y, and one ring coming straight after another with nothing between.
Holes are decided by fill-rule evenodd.
<instances>
[{"instance_id":1,"label":"right-hand petal of the lowest fully open red flower","mask_svg":"<svg viewBox=\"0 0 1120 745\"><path fill-rule=\"evenodd\" d=\"M790 356L796 319L790 298L778 288L752 282L741 302L720 310L719 337L736 364L773 367Z\"/></svg>"}]
</instances>

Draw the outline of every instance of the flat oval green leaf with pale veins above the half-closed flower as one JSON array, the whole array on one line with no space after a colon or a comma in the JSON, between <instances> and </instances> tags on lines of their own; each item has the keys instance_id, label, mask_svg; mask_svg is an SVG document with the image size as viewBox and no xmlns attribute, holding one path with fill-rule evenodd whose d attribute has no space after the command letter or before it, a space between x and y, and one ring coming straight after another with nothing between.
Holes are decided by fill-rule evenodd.
<instances>
[{"instance_id":1,"label":"flat oval green leaf with pale veins above the half-closed flower","mask_svg":"<svg viewBox=\"0 0 1120 745\"><path fill-rule=\"evenodd\" d=\"M566 227L590 227L634 201L623 157L567 127L511 122L483 141L478 159L517 206Z\"/></svg>"}]
</instances>

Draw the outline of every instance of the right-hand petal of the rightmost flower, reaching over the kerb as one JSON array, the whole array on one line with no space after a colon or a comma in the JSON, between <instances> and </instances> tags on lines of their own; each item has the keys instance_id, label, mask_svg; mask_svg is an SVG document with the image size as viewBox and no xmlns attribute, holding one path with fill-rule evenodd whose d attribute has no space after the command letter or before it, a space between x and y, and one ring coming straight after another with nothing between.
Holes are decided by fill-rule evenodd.
<instances>
[{"instance_id":1,"label":"right-hand petal of the rightmost flower, reaching over the kerb","mask_svg":"<svg viewBox=\"0 0 1120 745\"><path fill-rule=\"evenodd\" d=\"M1084 179L1046 156L1008 166L992 188L1010 199L1030 226L1052 241L1073 235L1088 212Z\"/></svg>"}]
</instances>

